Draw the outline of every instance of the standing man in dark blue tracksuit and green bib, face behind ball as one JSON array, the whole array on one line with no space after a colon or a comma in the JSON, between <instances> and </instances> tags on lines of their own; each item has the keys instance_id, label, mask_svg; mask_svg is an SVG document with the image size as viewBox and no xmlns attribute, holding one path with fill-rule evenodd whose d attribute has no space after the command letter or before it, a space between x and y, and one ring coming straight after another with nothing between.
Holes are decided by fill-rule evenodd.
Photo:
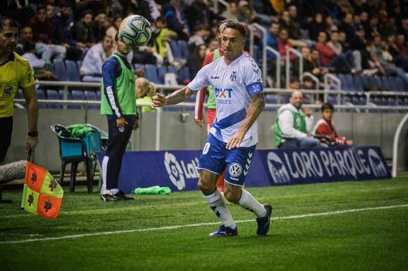
<instances>
[{"instance_id":1,"label":"standing man in dark blue tracksuit and green bib, face behind ball","mask_svg":"<svg viewBox=\"0 0 408 271\"><path fill-rule=\"evenodd\" d=\"M108 118L108 148L102 161L103 201L131 200L118 189L123 154L132 130L139 128L136 111L135 73L127 54L132 50L116 34L116 52L102 66L102 96L100 114Z\"/></svg>"}]
</instances>

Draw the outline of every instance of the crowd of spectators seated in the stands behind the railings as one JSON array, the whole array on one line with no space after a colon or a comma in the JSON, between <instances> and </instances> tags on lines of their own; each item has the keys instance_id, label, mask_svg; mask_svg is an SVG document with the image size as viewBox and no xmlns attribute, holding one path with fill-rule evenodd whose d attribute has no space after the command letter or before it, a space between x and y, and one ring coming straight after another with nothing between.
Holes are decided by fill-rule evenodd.
<instances>
[{"instance_id":1,"label":"crowd of spectators seated in the stands behind the railings","mask_svg":"<svg viewBox=\"0 0 408 271\"><path fill-rule=\"evenodd\" d=\"M16 18L23 26L19 54L32 53L45 62L83 60L83 80L99 80L101 63L112 53L111 41L120 22L139 14L151 22L152 38L134 49L132 64L187 65L195 74L203 52L219 46L215 25L231 18L247 27L252 22L265 26L265 37L255 31L256 43L262 48L266 39L281 53L282 66L286 51L294 47L304 58L303 71L317 77L327 72L395 74L408 85L406 1L252 0L251 4L234 0L227 8L218 3L216 9L210 0L15 0L2 2L0 8L3 16ZM174 57L171 40L188 42L188 59ZM25 51L25 43L34 43L35 51ZM268 58L272 59L268 70L273 71L275 55L268 52ZM298 75L296 58L290 54L293 75Z\"/></svg>"}]
</instances>

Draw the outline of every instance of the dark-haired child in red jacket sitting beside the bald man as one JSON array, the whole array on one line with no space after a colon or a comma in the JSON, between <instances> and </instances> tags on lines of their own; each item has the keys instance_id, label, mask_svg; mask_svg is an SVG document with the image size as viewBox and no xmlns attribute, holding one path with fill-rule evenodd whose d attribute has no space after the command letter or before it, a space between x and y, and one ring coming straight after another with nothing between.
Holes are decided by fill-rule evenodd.
<instances>
[{"instance_id":1,"label":"dark-haired child in red jacket sitting beside the bald man","mask_svg":"<svg viewBox=\"0 0 408 271\"><path fill-rule=\"evenodd\" d=\"M332 144L344 144L344 145L353 145L352 140L346 140L343 137L337 135L336 129L331 124L331 119L333 118L334 106L330 103L324 103L321 107L322 118L315 124L315 127L312 130L312 134L328 136L330 138L330 143ZM321 142L324 142L323 138L319 139Z\"/></svg>"}]
</instances>

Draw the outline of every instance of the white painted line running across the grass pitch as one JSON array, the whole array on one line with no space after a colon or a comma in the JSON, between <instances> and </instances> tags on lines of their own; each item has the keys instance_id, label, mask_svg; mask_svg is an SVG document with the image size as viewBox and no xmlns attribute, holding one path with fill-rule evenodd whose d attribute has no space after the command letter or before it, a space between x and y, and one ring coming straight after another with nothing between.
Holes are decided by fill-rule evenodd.
<instances>
[{"instance_id":1,"label":"white painted line running across the grass pitch","mask_svg":"<svg viewBox=\"0 0 408 271\"><path fill-rule=\"evenodd\" d=\"M349 209L349 210L340 210L340 211L334 211L334 212L317 213L317 214L305 214L305 215L296 215L296 216L287 216L287 217L275 217L275 218L272 218L272 220L329 216L329 215L338 215L338 214L353 213L353 212L362 212L362 211L366 211L366 210L380 210L380 209L403 208L403 207L408 207L408 204L380 206L380 207L368 207L368 208L361 208L361 209ZM253 221L254 221L253 219L250 219L250 220L238 220L238 221L235 221L235 223L246 223L246 222L253 222ZM208 226L208 225L218 225L218 224L220 224L220 222L164 226L164 227L158 227L158 228L146 228L146 229L134 229L134 230L103 231L103 232L94 232L94 233L85 233L85 234L65 235L65 236L58 236L58 237L44 237L44 238L33 238L33 239L25 239L25 240L3 241L3 242L0 242L0 245L2 245L2 244L21 244L21 243L30 243L30 242L37 242L37 241L60 240L60 239L69 239L69 238L79 238L79 237L85 237L85 236L108 235L108 234L129 233L129 232L143 232L143 231L154 231L154 230L171 230L171 229L179 229L179 228L187 228L187 227L199 227L199 226Z\"/></svg>"}]
</instances>

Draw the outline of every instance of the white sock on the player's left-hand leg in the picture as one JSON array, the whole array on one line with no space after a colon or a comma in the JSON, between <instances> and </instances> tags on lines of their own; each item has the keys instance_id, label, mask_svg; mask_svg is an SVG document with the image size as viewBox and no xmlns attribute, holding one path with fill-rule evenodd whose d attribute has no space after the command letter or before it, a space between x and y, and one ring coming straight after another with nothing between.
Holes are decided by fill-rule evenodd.
<instances>
[{"instance_id":1,"label":"white sock on the player's left-hand leg in the picture","mask_svg":"<svg viewBox=\"0 0 408 271\"><path fill-rule=\"evenodd\" d=\"M230 214L230 211L226 208L224 196L221 195L221 192L218 188L213 194L204 195L208 206L213 210L214 214L221 220L222 224L226 227L235 229L236 225Z\"/></svg>"}]
</instances>

